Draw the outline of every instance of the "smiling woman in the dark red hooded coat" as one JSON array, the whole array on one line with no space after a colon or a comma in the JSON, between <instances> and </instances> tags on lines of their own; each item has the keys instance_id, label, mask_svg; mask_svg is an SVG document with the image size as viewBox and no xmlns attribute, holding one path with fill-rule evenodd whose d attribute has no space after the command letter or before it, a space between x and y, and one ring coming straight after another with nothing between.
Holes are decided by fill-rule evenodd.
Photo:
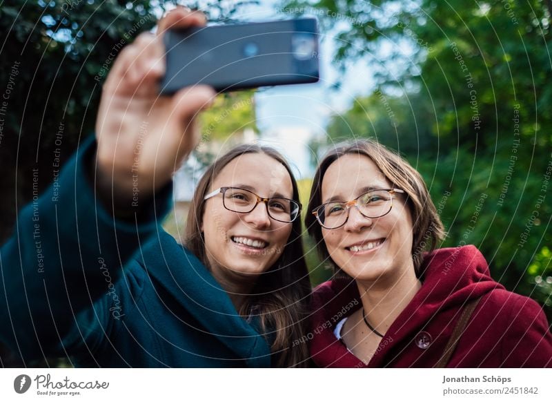
<instances>
[{"instance_id":1,"label":"smiling woman in the dark red hooded coat","mask_svg":"<svg viewBox=\"0 0 552 402\"><path fill-rule=\"evenodd\" d=\"M369 140L330 151L308 209L337 270L313 295L319 367L552 366L537 303L496 283L475 247L435 250L442 223L400 156Z\"/></svg>"}]
</instances>

